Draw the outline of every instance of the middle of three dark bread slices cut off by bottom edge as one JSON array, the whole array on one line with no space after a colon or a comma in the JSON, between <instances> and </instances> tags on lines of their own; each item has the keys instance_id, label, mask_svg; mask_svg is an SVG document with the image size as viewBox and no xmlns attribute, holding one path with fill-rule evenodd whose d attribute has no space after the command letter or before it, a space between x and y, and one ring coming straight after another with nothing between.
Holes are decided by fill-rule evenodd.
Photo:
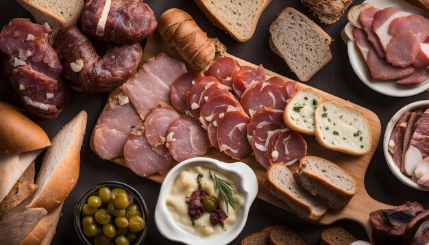
<instances>
[{"instance_id":1,"label":"middle of three dark bread slices cut off by bottom edge","mask_svg":"<svg viewBox=\"0 0 429 245\"><path fill-rule=\"evenodd\" d=\"M271 227L268 231L270 245L306 245L299 235L288 227Z\"/></svg>"}]
</instances>

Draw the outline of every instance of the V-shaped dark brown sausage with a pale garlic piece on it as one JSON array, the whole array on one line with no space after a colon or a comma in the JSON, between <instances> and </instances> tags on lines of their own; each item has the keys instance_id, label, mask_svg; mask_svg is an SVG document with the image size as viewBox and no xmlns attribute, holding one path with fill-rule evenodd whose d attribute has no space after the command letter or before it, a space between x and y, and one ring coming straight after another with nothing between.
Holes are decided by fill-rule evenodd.
<instances>
[{"instance_id":1,"label":"V-shaped dark brown sausage with a pale garlic piece on it","mask_svg":"<svg viewBox=\"0 0 429 245\"><path fill-rule=\"evenodd\" d=\"M115 46L99 57L93 44L76 25L58 31L55 49L64 67L64 78L74 90L110 92L137 70L143 51L138 42Z\"/></svg>"}]
</instances>

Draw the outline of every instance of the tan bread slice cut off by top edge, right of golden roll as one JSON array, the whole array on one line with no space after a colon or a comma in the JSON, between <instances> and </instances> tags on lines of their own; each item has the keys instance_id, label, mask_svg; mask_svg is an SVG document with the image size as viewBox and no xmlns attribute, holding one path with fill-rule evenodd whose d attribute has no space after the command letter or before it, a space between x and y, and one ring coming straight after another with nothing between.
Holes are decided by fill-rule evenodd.
<instances>
[{"instance_id":1,"label":"tan bread slice cut off by top edge, right of golden roll","mask_svg":"<svg viewBox=\"0 0 429 245\"><path fill-rule=\"evenodd\" d=\"M252 38L260 15L271 0L195 0L201 11L216 26L233 38L245 42Z\"/></svg>"}]
</instances>

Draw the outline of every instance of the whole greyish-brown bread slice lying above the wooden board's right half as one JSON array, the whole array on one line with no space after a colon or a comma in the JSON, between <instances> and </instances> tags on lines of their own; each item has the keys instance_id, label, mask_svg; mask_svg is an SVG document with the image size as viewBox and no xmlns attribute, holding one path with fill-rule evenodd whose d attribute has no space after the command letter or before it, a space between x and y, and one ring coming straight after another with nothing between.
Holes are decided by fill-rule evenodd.
<instances>
[{"instance_id":1,"label":"whole greyish-brown bread slice lying above the wooden board's right half","mask_svg":"<svg viewBox=\"0 0 429 245\"><path fill-rule=\"evenodd\" d=\"M269 27L270 47L299 81L308 81L332 59L332 38L294 8L286 7Z\"/></svg>"}]
</instances>

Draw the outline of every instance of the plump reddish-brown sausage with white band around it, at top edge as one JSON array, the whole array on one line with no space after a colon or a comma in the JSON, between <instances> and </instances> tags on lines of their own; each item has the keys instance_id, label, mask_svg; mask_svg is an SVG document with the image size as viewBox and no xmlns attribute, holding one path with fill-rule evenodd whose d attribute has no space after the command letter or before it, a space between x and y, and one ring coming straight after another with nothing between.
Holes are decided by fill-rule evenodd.
<instances>
[{"instance_id":1,"label":"plump reddish-brown sausage with white band around it, at top edge","mask_svg":"<svg viewBox=\"0 0 429 245\"><path fill-rule=\"evenodd\" d=\"M119 44L140 42L157 25L154 12L141 0L86 1L80 22L86 35Z\"/></svg>"}]
</instances>

